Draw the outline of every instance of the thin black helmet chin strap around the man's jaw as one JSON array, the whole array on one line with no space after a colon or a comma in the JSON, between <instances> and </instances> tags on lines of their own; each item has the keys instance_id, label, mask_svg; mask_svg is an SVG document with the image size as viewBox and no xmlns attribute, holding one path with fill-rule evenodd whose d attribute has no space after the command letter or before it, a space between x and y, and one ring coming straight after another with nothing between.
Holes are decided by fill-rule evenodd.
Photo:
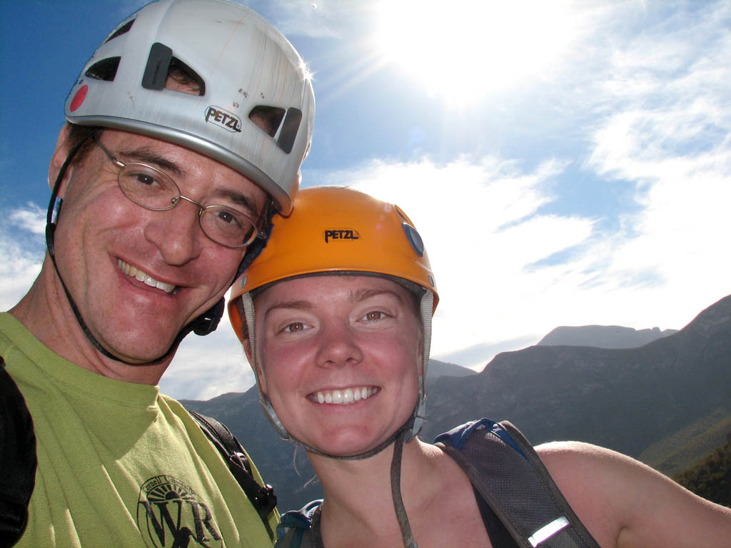
<instances>
[{"instance_id":1,"label":"thin black helmet chin strap around the man's jaw","mask_svg":"<svg viewBox=\"0 0 731 548\"><path fill-rule=\"evenodd\" d=\"M51 262L53 262L53 268L54 270L56 270L58 281L61 282L61 287L64 288L64 293L66 294L67 300L69 301L69 305L71 306L71 310L74 313L76 321L79 324L81 331L84 335L86 335L86 338L94 346L94 348L96 348L103 356L109 359L113 359L117 362L126 363L128 365L150 365L156 362L160 362L163 359L170 357L172 354L175 354L175 351L178 349L178 346L180 345L183 338L185 338L186 335L188 335L191 331L195 332L196 335L208 335L208 333L215 331L216 327L218 327L219 325L219 321L221 321L221 316L223 316L224 313L224 299L223 297L221 297L221 300L219 300L219 302L216 302L216 304L213 305L213 307L211 307L208 311L202 313L200 316L197 316L197 318L195 318L193 321L183 327L183 329L175 337L175 340L173 340L173 344L170 345L170 348L167 349L167 351L165 351L162 356L151 359L149 362L127 362L126 360L121 359L114 354L111 354L110 351L105 349L104 346L102 346L101 343L96 340L94 335L91 333L91 330L89 330L88 326L86 325L83 317L81 316L81 313L76 305L76 302L71 296L71 293L69 293L69 289L67 288L66 283L64 283L64 278L61 278L61 273L58 272L58 265L56 265L56 250L54 248L56 223L58 222L58 216L61 213L61 205L63 205L64 202L63 199L58 198L58 190L61 186L61 180L63 180L64 175L66 174L66 171L71 164L73 157L82 147L84 142L88 140L89 137L91 137L91 135L83 139L81 142L75 145L74 148L72 148L72 150L69 152L69 156L67 156L66 161L64 161L64 164L61 166L61 170L58 171L58 177L56 177L56 181L53 183L53 191L50 195L50 202L48 202L48 213L46 216L45 237L46 247L48 248L48 255L50 256ZM56 205L57 202L58 205ZM262 251L262 248L264 248L264 246L266 245L266 240L258 239L257 242L259 241L261 241L262 243L260 243L256 248L246 250L244 259L241 262L242 265L246 263L246 265L248 266L251 261L254 260L254 257ZM246 262L247 258L249 257L249 251L251 251L251 254L253 254L254 256L249 259L249 262ZM239 268L241 269L241 267Z\"/></svg>"}]
</instances>

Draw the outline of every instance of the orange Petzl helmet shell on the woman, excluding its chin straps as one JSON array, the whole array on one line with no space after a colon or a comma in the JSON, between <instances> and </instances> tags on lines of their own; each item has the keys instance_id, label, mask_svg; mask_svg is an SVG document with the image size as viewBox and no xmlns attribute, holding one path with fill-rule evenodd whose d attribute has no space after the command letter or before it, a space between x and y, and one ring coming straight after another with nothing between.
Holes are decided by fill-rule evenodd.
<instances>
[{"instance_id":1,"label":"orange Petzl helmet shell on the woman, excluding its chin straps","mask_svg":"<svg viewBox=\"0 0 731 548\"><path fill-rule=\"evenodd\" d=\"M231 324L243 342L246 330L239 297L276 281L328 272L363 272L401 278L436 293L429 257L414 224L398 205L347 187L300 191L286 218L272 220L262 254L233 284Z\"/></svg>"}]
</instances>

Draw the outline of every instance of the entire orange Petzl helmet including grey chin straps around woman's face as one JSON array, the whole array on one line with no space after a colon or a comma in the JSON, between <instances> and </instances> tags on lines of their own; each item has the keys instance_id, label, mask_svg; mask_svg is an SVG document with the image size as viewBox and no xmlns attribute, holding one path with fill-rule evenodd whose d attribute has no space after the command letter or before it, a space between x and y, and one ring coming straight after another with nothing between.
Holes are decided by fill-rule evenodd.
<instances>
[{"instance_id":1,"label":"entire orange Petzl helmet including grey chin straps around woman's face","mask_svg":"<svg viewBox=\"0 0 731 548\"><path fill-rule=\"evenodd\" d=\"M420 368L419 397L409 422L401 428L411 433L410 438L414 437L425 416L431 316L439 300L431 265L422 239L406 213L397 205L346 187L321 186L300 191L289 216L274 216L264 251L232 286L229 317L241 342L249 341L250 365L265 414L282 438L319 453L289 435L269 398L262 392L260 375L265 372L257 367L252 292L287 278L326 273L382 275L403 284L420 298L423 359L417 364ZM346 458L375 454L393 442L397 434L381 446Z\"/></svg>"}]
</instances>

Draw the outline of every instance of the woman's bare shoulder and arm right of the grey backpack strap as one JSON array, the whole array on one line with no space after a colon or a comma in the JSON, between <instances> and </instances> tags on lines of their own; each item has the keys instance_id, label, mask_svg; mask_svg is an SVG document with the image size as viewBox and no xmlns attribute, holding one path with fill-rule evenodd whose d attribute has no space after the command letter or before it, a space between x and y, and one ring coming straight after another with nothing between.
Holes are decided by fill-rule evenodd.
<instances>
[{"instance_id":1,"label":"woman's bare shoulder and arm right of the grey backpack strap","mask_svg":"<svg viewBox=\"0 0 731 548\"><path fill-rule=\"evenodd\" d=\"M577 441L536 451L602 547L731 548L731 509L632 457Z\"/></svg>"}]
</instances>

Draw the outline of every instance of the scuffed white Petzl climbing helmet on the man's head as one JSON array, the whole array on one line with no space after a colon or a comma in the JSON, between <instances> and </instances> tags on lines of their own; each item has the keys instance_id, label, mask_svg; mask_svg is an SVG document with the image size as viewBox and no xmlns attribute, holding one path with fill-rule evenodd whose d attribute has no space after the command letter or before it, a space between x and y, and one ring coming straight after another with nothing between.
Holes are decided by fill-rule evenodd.
<instances>
[{"instance_id":1,"label":"scuffed white Petzl climbing helmet on the man's head","mask_svg":"<svg viewBox=\"0 0 731 548\"><path fill-rule=\"evenodd\" d=\"M175 66L200 95L165 88ZM314 92L294 47L248 7L159 0L124 20L84 66L70 123L150 135L221 161L292 210L314 123Z\"/></svg>"}]
</instances>

